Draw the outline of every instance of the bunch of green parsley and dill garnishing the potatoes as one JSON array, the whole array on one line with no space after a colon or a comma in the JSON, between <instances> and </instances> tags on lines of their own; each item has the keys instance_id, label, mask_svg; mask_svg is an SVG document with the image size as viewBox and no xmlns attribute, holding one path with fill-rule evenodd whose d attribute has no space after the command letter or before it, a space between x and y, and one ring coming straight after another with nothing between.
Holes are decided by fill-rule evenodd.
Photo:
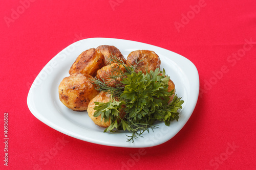
<instances>
[{"instance_id":1,"label":"bunch of green parsley and dill garnishing the potatoes","mask_svg":"<svg viewBox=\"0 0 256 170\"><path fill-rule=\"evenodd\" d=\"M165 70L143 74L142 71L135 72L136 66L127 66L115 57L111 58L115 62L122 64L126 72L120 74L124 86L109 87L100 80L95 80L99 90L108 91L111 95L109 102L95 102L94 116L101 115L101 121L110 121L111 125L104 132L115 132L116 130L127 130L131 135L126 135L127 141L134 142L135 138L143 137L144 132L157 128L156 121L164 122L166 126L173 120L179 119L179 109L184 103L177 95L168 104L169 96L174 94L174 90L168 92L169 77L165 76ZM117 70L115 70L117 71ZM109 75L111 77L111 74ZM113 80L116 78L112 77ZM116 100L116 98L118 100ZM123 111L124 117L120 117Z\"/></svg>"}]
</instances>

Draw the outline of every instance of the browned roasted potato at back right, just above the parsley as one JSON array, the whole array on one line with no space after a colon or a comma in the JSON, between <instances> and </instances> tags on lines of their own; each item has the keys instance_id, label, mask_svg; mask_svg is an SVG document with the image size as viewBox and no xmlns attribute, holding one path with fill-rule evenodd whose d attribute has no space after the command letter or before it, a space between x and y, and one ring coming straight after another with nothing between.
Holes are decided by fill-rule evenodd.
<instances>
[{"instance_id":1,"label":"browned roasted potato at back right, just above the parsley","mask_svg":"<svg viewBox=\"0 0 256 170\"><path fill-rule=\"evenodd\" d=\"M137 50L131 52L127 56L126 64L128 66L136 66L136 72L142 71L144 74L150 72L151 70L155 71L156 68L160 68L160 58L159 56L149 50Z\"/></svg>"}]
</instances>

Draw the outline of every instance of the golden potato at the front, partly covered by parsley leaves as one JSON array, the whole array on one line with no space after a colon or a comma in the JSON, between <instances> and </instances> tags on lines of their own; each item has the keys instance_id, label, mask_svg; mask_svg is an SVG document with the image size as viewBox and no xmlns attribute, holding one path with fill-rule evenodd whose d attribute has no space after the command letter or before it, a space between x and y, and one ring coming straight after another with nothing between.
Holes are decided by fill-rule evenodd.
<instances>
[{"instance_id":1,"label":"golden potato at the front, partly covered by parsley leaves","mask_svg":"<svg viewBox=\"0 0 256 170\"><path fill-rule=\"evenodd\" d=\"M108 94L108 92L103 92L101 91L98 95L95 96L95 98L93 98L93 100L91 100L91 102L88 105L88 115L89 117L93 120L93 122L103 128L108 128L111 124L110 124L110 120L108 122L104 122L104 118L101 120L101 115L99 115L98 117L94 117L93 114L95 112L94 107L95 107L95 103L94 102L102 102L102 103L106 103L110 101L110 94ZM116 99L116 101L118 101ZM125 106L122 106L122 108L124 109ZM125 116L125 112L122 110L120 110L120 117L123 118Z\"/></svg>"}]
</instances>

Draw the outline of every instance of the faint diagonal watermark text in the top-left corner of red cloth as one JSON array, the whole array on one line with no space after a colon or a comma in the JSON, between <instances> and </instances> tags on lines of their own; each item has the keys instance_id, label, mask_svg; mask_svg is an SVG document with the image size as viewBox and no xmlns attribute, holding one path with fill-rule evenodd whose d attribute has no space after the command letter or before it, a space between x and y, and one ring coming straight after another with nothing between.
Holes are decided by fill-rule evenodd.
<instances>
[{"instance_id":1,"label":"faint diagonal watermark text in the top-left corner of red cloth","mask_svg":"<svg viewBox=\"0 0 256 170\"><path fill-rule=\"evenodd\" d=\"M19 6L16 9L11 9L11 15L10 17L5 16L4 20L7 25L7 27L10 27L11 22L15 22L19 18L20 15L22 15L31 5L31 3L35 2L36 0L20 0Z\"/></svg>"}]
</instances>

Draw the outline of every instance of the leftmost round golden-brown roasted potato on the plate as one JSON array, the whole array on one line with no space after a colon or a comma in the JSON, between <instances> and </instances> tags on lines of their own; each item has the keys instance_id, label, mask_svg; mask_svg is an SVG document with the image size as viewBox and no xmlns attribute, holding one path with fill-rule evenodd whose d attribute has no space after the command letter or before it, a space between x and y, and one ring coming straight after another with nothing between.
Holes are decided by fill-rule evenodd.
<instances>
[{"instance_id":1,"label":"leftmost round golden-brown roasted potato on the plate","mask_svg":"<svg viewBox=\"0 0 256 170\"><path fill-rule=\"evenodd\" d=\"M99 93L90 79L93 77L80 72L64 78L59 84L59 100L74 111L87 110L89 102Z\"/></svg>"}]
</instances>

